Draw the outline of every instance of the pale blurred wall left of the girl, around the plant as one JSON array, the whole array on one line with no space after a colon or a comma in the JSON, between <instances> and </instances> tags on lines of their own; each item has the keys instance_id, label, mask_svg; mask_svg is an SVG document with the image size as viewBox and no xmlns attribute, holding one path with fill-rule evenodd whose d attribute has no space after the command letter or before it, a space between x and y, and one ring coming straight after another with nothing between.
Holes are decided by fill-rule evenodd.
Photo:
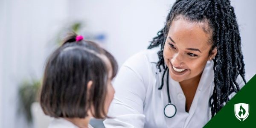
<instances>
[{"instance_id":1,"label":"pale blurred wall left of the girl, around the plant","mask_svg":"<svg viewBox=\"0 0 256 128\"><path fill-rule=\"evenodd\" d=\"M1 1L0 128L29 127L17 115L17 89L23 79L41 78L46 44L67 14L67 0Z\"/></svg>"}]
</instances>

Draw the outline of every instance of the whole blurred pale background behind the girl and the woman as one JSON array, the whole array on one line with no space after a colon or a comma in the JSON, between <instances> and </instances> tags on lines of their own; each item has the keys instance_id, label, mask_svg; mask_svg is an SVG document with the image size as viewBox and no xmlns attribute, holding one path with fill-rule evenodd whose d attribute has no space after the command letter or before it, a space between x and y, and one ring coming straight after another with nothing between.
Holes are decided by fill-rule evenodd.
<instances>
[{"instance_id":1,"label":"whole blurred pale background behind the girl and the woman","mask_svg":"<svg viewBox=\"0 0 256 128\"><path fill-rule=\"evenodd\" d=\"M113 54L119 67L146 49L175 0L0 0L0 128L45 128L36 94L47 56L75 30ZM256 74L255 0L231 0L246 79ZM100 120L91 122L103 128Z\"/></svg>"}]
</instances>

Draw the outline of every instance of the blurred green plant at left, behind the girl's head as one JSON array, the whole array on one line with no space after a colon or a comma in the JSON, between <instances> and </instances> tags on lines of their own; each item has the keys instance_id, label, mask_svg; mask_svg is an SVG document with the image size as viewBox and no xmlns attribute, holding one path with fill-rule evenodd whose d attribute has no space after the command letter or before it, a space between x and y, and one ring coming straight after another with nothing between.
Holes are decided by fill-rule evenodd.
<instances>
[{"instance_id":1,"label":"blurred green plant at left, behind the girl's head","mask_svg":"<svg viewBox=\"0 0 256 128\"><path fill-rule=\"evenodd\" d=\"M18 90L20 113L25 114L28 122L32 122L31 105L38 101L38 92L41 87L41 81L33 79L32 81L23 81Z\"/></svg>"}]
</instances>

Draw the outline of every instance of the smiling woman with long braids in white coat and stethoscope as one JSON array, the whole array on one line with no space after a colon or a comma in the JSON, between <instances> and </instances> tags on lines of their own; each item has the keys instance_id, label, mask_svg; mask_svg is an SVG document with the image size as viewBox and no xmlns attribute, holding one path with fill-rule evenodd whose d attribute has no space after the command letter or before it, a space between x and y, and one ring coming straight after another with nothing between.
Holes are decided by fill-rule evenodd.
<instances>
[{"instance_id":1,"label":"smiling woman with long braids in white coat and stethoscope","mask_svg":"<svg viewBox=\"0 0 256 128\"><path fill-rule=\"evenodd\" d=\"M160 46L160 47L158 47ZM201 128L245 84L229 0L177 0L148 50L116 77L107 128Z\"/></svg>"}]
</instances>

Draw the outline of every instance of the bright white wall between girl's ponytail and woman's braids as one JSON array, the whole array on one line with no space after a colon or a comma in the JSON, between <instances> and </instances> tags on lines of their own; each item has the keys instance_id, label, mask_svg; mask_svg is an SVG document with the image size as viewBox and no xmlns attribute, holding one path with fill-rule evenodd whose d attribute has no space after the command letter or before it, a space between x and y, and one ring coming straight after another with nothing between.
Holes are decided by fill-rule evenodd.
<instances>
[{"instance_id":1,"label":"bright white wall between girl's ponytail and woman's braids","mask_svg":"<svg viewBox=\"0 0 256 128\"><path fill-rule=\"evenodd\" d=\"M70 16L84 19L92 32L106 33L106 48L121 66L132 54L147 48L174 1L72 0Z\"/></svg>"}]
</instances>

